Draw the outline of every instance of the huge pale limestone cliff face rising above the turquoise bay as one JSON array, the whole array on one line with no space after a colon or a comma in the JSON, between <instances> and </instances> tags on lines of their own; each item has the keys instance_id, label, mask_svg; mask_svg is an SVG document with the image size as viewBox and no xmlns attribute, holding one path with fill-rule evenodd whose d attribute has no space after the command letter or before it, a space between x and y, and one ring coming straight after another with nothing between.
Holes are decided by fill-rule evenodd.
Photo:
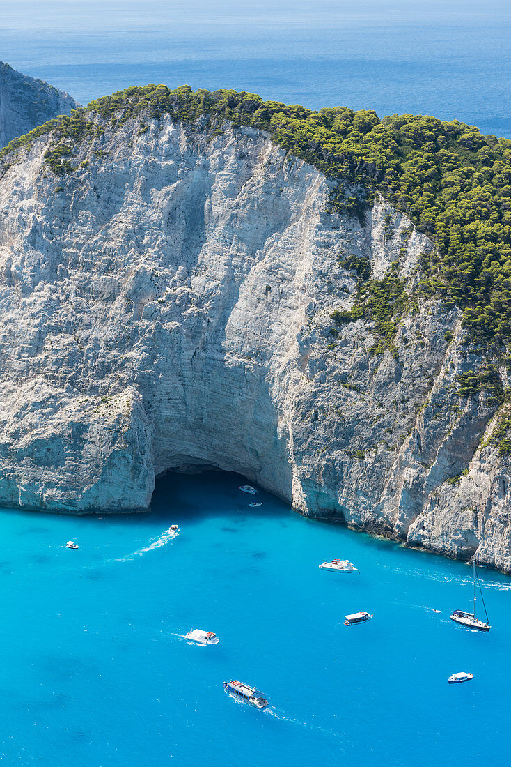
<instances>
[{"instance_id":1,"label":"huge pale limestone cliff face rising above the turquoise bay","mask_svg":"<svg viewBox=\"0 0 511 767\"><path fill-rule=\"evenodd\" d=\"M105 126L58 179L46 149L0 181L1 504L146 509L160 472L218 466L511 571L508 459L482 446L496 406L457 393L480 366L459 312L419 304L397 358L330 318L348 255L416 283L432 245L406 216L328 212L332 182L251 128Z\"/></svg>"}]
</instances>

